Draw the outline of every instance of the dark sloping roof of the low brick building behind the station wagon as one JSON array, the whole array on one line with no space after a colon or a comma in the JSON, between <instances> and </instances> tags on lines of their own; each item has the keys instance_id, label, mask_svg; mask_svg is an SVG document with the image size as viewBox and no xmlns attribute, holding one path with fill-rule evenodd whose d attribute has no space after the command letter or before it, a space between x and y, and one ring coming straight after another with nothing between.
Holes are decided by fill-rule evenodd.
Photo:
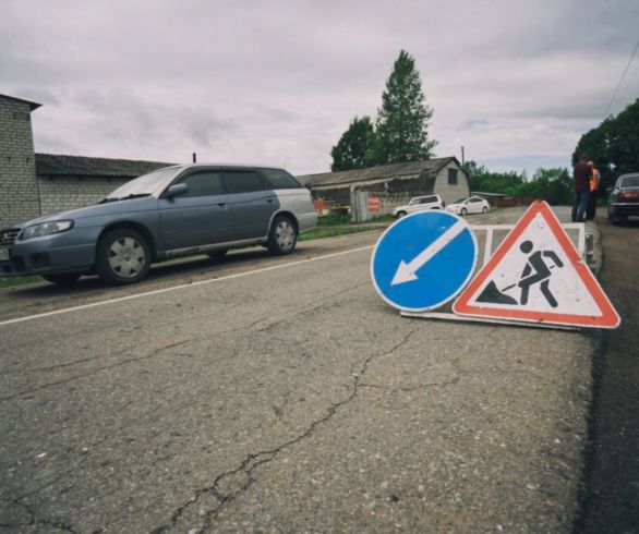
<instances>
[{"instance_id":1,"label":"dark sloping roof of the low brick building behind the station wagon","mask_svg":"<svg viewBox=\"0 0 639 534\"><path fill-rule=\"evenodd\" d=\"M36 154L36 174L46 177L135 178L172 165L174 163Z\"/></svg>"}]
</instances>

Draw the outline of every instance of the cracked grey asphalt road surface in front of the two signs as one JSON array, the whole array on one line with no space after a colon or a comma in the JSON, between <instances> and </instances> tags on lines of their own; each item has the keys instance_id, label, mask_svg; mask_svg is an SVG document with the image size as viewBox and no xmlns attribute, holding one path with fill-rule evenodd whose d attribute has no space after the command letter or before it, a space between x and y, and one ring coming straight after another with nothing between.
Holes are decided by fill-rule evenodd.
<instances>
[{"instance_id":1,"label":"cracked grey asphalt road surface in front of the two signs","mask_svg":"<svg viewBox=\"0 0 639 534\"><path fill-rule=\"evenodd\" d=\"M5 291L0 315L377 236ZM0 531L569 532L600 338L402 318L370 254L0 325Z\"/></svg>"}]
</instances>

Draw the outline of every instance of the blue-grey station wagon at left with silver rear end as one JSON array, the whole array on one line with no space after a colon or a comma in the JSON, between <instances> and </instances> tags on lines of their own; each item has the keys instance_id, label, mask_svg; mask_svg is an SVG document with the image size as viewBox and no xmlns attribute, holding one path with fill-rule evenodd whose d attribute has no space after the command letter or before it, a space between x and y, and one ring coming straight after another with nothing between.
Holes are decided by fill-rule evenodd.
<instances>
[{"instance_id":1,"label":"blue-grey station wagon at left with silver rear end","mask_svg":"<svg viewBox=\"0 0 639 534\"><path fill-rule=\"evenodd\" d=\"M0 230L0 276L136 282L152 263L262 244L290 254L315 228L311 192L284 169L193 163L132 180L96 205Z\"/></svg>"}]
</instances>

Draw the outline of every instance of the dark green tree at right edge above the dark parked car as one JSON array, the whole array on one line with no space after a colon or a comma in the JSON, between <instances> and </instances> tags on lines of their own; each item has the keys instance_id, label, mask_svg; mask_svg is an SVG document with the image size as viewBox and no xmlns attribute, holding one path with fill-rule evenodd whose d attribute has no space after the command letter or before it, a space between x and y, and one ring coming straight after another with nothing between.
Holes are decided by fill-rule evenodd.
<instances>
[{"instance_id":1,"label":"dark green tree at right edge above the dark parked car","mask_svg":"<svg viewBox=\"0 0 639 534\"><path fill-rule=\"evenodd\" d=\"M619 174L639 170L638 146L639 98L584 133L572 153L572 162L577 162L580 154L588 154L601 172L603 187L607 187Z\"/></svg>"}]
</instances>

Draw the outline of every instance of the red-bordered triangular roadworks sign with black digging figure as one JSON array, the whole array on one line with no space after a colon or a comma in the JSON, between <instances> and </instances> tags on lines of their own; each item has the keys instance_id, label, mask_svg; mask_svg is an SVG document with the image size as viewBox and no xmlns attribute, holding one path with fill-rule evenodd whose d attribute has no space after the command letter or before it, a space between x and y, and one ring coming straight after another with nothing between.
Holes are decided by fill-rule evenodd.
<instances>
[{"instance_id":1,"label":"red-bordered triangular roadworks sign with black digging figure","mask_svg":"<svg viewBox=\"0 0 639 534\"><path fill-rule=\"evenodd\" d=\"M590 328L620 318L551 207L533 203L453 306L459 315Z\"/></svg>"}]
</instances>

